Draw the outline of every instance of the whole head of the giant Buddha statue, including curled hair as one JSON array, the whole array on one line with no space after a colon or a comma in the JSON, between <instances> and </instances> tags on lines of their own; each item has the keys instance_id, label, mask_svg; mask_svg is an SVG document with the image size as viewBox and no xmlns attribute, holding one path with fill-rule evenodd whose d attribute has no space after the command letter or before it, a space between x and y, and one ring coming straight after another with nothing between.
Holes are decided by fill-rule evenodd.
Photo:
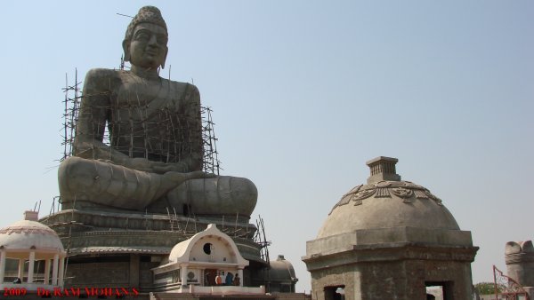
<instances>
[{"instance_id":1,"label":"whole head of the giant Buddha statue, including curled hair","mask_svg":"<svg viewBox=\"0 0 534 300\"><path fill-rule=\"evenodd\" d=\"M144 6L126 29L125 61L137 67L165 67L167 55L166 22L155 6Z\"/></svg>"}]
</instances>

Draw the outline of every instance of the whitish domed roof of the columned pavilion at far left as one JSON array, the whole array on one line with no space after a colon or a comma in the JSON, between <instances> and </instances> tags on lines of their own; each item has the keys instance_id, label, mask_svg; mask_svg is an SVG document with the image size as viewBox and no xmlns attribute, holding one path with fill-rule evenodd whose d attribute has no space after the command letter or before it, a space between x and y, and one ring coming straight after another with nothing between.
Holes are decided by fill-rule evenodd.
<instances>
[{"instance_id":1,"label":"whitish domed roof of the columned pavilion at far left","mask_svg":"<svg viewBox=\"0 0 534 300\"><path fill-rule=\"evenodd\" d=\"M36 222L35 211L27 211L25 216L26 219L0 229L0 248L63 252L63 244L58 234L50 227Z\"/></svg>"}]
</instances>

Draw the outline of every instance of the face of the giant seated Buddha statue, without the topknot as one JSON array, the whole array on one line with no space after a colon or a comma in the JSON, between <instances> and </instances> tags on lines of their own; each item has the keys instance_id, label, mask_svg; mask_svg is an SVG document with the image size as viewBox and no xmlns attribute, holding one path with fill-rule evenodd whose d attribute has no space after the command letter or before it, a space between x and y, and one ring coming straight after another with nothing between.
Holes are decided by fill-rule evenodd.
<instances>
[{"instance_id":1,"label":"face of the giant seated Buddha statue, without the topknot","mask_svg":"<svg viewBox=\"0 0 534 300\"><path fill-rule=\"evenodd\" d=\"M132 40L125 45L130 63L136 67L158 68L166 59L167 40L165 28L151 23L137 25Z\"/></svg>"}]
</instances>

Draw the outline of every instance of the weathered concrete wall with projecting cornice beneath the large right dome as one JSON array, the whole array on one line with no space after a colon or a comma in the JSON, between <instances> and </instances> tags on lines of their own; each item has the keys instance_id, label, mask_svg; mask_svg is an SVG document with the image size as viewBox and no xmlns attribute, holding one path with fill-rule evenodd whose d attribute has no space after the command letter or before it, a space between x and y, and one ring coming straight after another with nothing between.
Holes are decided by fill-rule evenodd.
<instances>
[{"instance_id":1,"label":"weathered concrete wall with projecting cornice beneath the large right dome","mask_svg":"<svg viewBox=\"0 0 534 300\"><path fill-rule=\"evenodd\" d=\"M447 300L471 298L471 262L477 248L389 246L305 257L313 298L336 299L328 295L334 296L334 287L344 287L346 300L425 300L426 286L441 286Z\"/></svg>"}]
</instances>

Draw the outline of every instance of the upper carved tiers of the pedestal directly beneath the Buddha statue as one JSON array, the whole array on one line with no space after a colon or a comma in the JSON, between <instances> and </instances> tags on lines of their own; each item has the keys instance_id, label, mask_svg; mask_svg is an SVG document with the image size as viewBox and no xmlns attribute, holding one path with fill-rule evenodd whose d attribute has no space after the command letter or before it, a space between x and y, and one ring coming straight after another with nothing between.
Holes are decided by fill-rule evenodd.
<instances>
[{"instance_id":1,"label":"upper carved tiers of the pedestal directly beneath the Buddha statue","mask_svg":"<svg viewBox=\"0 0 534 300\"><path fill-rule=\"evenodd\" d=\"M220 224L219 219L217 223ZM175 244L189 239L204 229L213 219L176 218L161 215L125 214L77 210L61 212L41 219L61 237L69 254L77 256L105 256L116 254L168 255ZM179 227L178 227L179 226ZM232 236L241 255L261 261L260 246L253 240L254 225L221 225ZM239 233L239 235L238 235Z\"/></svg>"}]
</instances>

